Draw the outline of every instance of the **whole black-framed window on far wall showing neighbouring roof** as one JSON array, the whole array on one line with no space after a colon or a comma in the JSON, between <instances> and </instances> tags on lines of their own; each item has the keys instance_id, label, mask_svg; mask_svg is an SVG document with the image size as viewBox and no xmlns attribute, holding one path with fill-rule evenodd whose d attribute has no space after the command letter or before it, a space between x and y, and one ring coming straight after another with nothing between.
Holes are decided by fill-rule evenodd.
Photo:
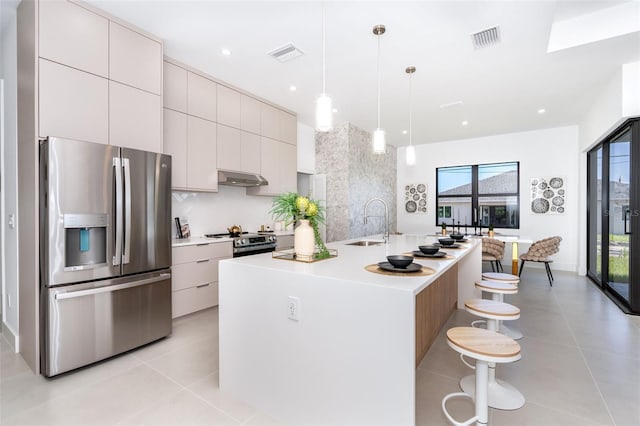
<instances>
[{"instance_id":1,"label":"whole black-framed window on far wall showing neighbouring roof","mask_svg":"<svg viewBox=\"0 0 640 426\"><path fill-rule=\"evenodd\" d=\"M440 167L436 225L520 227L520 163Z\"/></svg>"}]
</instances>

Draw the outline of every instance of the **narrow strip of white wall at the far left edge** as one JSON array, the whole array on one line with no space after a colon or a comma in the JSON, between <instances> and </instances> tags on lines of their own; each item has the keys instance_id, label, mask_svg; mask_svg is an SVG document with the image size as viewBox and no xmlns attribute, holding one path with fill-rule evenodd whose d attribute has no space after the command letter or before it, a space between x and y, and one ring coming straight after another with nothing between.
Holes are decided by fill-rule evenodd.
<instances>
[{"instance_id":1,"label":"narrow strip of white wall at the far left edge","mask_svg":"<svg viewBox=\"0 0 640 426\"><path fill-rule=\"evenodd\" d=\"M4 79L4 281L2 283L2 321L18 336L18 235L16 228L8 226L9 215L17 217L17 56L16 56L16 7L17 3L2 5L2 28L0 34L0 78ZM11 342L17 349L17 342Z\"/></svg>"}]
</instances>

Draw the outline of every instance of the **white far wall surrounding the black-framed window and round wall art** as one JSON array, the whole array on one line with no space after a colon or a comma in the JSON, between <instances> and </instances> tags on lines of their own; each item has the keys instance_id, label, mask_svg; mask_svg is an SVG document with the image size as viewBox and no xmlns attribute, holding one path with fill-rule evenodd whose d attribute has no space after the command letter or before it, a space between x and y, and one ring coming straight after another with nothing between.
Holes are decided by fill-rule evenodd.
<instances>
[{"instance_id":1,"label":"white far wall surrounding the black-framed window and round wall art","mask_svg":"<svg viewBox=\"0 0 640 426\"><path fill-rule=\"evenodd\" d=\"M404 185L426 183L427 214L409 214L398 209L398 231L424 233L436 230L436 168L467 164L520 161L520 229L498 230L534 241L560 235L560 253L554 269L576 271L578 264L578 127L558 127L483 138L447 141L416 146L416 165L405 164L405 148L398 149L398 205L403 205ZM537 176L567 177L567 213L534 215L530 212L529 179ZM509 245L507 245L509 246ZM526 246L520 251L525 251ZM505 259L510 258L507 247Z\"/></svg>"}]
</instances>

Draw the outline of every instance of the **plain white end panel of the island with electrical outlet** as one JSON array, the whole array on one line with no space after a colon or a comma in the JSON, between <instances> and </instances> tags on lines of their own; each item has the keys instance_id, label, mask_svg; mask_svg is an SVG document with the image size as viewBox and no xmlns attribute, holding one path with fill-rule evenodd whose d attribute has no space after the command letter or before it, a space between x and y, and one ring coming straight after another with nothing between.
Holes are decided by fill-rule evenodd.
<instances>
[{"instance_id":1,"label":"plain white end panel of the island with electrical outlet","mask_svg":"<svg viewBox=\"0 0 640 426\"><path fill-rule=\"evenodd\" d=\"M225 261L219 296L224 392L285 424L415 423L412 292Z\"/></svg>"}]
</instances>

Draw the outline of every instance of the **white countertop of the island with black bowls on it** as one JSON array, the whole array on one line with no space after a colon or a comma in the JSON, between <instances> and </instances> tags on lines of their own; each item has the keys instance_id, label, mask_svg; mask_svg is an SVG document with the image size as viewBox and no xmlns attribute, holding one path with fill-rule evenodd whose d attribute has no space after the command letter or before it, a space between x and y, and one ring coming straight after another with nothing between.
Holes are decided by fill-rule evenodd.
<instances>
[{"instance_id":1,"label":"white countertop of the island with black bowls on it","mask_svg":"<svg viewBox=\"0 0 640 426\"><path fill-rule=\"evenodd\" d=\"M427 235L391 235L388 244L378 246L352 246L349 242L360 240L381 240L381 236L357 238L354 240L340 241L327 244L330 249L338 251L338 257L320 260L313 263L296 262L282 259L273 259L271 253L259 254L247 257L227 259L223 262L240 263L256 268L278 270L285 273L302 275L314 275L335 280L358 282L366 285L391 287L394 289L419 293L455 262L464 257L472 247L480 244L480 239L470 238L463 244L464 248L446 249L442 251L455 257L455 259L427 259L416 258L415 262L423 266L433 268L436 273L429 276L389 276L366 271L367 265L386 261L386 256L403 254L418 250L419 245L437 242L436 237Z\"/></svg>"}]
</instances>

